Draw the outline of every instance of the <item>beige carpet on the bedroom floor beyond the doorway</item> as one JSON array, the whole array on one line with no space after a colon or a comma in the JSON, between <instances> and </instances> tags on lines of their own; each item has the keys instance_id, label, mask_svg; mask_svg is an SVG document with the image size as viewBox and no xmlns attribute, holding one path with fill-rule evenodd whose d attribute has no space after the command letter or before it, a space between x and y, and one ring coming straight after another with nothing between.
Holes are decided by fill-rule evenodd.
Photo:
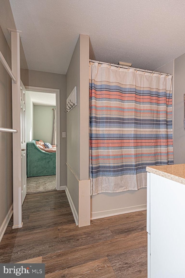
<instances>
[{"instance_id":1,"label":"beige carpet on the bedroom floor beyond the doorway","mask_svg":"<svg viewBox=\"0 0 185 278\"><path fill-rule=\"evenodd\" d=\"M56 175L27 178L27 193L56 190Z\"/></svg>"}]
</instances>

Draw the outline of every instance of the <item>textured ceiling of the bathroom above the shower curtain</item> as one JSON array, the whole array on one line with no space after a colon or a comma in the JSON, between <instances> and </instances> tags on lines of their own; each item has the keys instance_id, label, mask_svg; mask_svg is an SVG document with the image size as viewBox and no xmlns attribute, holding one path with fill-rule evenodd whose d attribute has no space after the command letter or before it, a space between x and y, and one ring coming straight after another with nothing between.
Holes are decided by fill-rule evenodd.
<instances>
[{"instance_id":1,"label":"textured ceiling of the bathroom above the shower curtain","mask_svg":"<svg viewBox=\"0 0 185 278\"><path fill-rule=\"evenodd\" d=\"M10 8L11 5L11 8ZM23 32L22 67L65 74L79 34L90 58L155 70L185 52L181 0L1 0L0 25Z\"/></svg>"}]
</instances>

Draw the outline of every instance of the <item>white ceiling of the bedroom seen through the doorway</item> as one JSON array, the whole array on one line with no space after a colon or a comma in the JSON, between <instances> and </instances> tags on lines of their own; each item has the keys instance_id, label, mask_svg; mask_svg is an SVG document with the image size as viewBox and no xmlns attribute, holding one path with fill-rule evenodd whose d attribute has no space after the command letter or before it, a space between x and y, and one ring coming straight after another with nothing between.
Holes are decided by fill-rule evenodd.
<instances>
[{"instance_id":1,"label":"white ceiling of the bedroom seen through the doorway","mask_svg":"<svg viewBox=\"0 0 185 278\"><path fill-rule=\"evenodd\" d=\"M56 95L45 92L29 91L34 105L56 106Z\"/></svg>"}]
</instances>

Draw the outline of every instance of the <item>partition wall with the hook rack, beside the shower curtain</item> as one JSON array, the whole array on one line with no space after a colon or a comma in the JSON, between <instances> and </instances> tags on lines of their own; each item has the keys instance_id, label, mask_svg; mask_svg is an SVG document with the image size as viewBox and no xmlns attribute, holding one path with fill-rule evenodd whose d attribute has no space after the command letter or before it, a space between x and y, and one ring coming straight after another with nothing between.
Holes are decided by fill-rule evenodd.
<instances>
[{"instance_id":1,"label":"partition wall with the hook rack, beside the shower curtain","mask_svg":"<svg viewBox=\"0 0 185 278\"><path fill-rule=\"evenodd\" d=\"M77 86L77 106L67 113L67 189L78 212L90 212L89 179L89 37L79 35L66 73L66 98ZM83 185L85 185L85 189ZM88 192L89 188L89 192ZM83 193L79 195L79 190ZM82 197L86 196L86 202ZM88 214L79 213L79 226L90 224ZM83 223L82 223L83 222Z\"/></svg>"}]
</instances>

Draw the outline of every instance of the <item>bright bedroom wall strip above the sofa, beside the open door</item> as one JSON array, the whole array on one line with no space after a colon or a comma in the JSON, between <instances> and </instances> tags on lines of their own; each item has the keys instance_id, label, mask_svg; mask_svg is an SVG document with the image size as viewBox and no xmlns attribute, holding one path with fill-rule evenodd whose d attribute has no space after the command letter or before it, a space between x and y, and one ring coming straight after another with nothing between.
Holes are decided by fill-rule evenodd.
<instances>
[{"instance_id":1,"label":"bright bedroom wall strip above the sofa, beside the open door","mask_svg":"<svg viewBox=\"0 0 185 278\"><path fill-rule=\"evenodd\" d=\"M34 139L33 107L34 105L30 93L26 91L26 142Z\"/></svg>"}]
</instances>

